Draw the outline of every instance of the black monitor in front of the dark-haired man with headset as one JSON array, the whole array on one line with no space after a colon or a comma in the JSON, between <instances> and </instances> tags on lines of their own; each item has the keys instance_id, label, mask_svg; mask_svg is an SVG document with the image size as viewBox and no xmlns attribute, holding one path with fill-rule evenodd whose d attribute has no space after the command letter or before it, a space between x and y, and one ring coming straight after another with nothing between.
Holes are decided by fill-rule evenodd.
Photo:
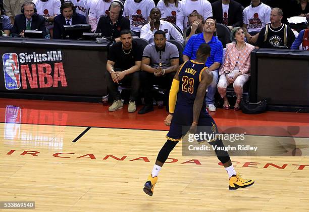
<instances>
[{"instance_id":1,"label":"black monitor in front of the dark-haired man with headset","mask_svg":"<svg viewBox=\"0 0 309 212\"><path fill-rule=\"evenodd\" d=\"M91 31L90 24L73 24L73 25L64 25L65 32L63 35L64 39L81 39L84 32Z\"/></svg>"}]
</instances>

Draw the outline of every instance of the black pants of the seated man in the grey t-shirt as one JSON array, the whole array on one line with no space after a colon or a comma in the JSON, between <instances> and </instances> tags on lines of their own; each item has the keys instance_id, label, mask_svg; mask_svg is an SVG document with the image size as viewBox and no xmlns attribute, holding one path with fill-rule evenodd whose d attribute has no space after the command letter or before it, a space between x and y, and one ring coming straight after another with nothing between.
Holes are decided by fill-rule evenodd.
<instances>
[{"instance_id":1,"label":"black pants of the seated man in the grey t-shirt","mask_svg":"<svg viewBox=\"0 0 309 212\"><path fill-rule=\"evenodd\" d=\"M160 86L160 88L166 89L165 101L168 102L170 89L172 86L175 72L164 74L163 76L155 76L153 73L146 71L140 72L141 86L143 88L144 101L146 106L152 106L152 93L151 89L154 84Z\"/></svg>"}]
</instances>

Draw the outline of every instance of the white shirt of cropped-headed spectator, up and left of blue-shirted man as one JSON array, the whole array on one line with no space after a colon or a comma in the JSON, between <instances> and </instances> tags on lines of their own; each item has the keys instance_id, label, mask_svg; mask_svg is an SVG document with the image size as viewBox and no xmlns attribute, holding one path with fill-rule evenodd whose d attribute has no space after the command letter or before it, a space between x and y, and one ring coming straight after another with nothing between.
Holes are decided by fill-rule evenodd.
<instances>
[{"instance_id":1,"label":"white shirt of cropped-headed spectator, up and left of blue-shirted man","mask_svg":"<svg viewBox=\"0 0 309 212\"><path fill-rule=\"evenodd\" d=\"M197 11L198 14L203 16L204 20L213 16L213 8L207 0L182 0L179 2L178 8L182 11L177 15L176 25L183 31L183 29L190 27L188 16L193 11Z\"/></svg>"}]
</instances>

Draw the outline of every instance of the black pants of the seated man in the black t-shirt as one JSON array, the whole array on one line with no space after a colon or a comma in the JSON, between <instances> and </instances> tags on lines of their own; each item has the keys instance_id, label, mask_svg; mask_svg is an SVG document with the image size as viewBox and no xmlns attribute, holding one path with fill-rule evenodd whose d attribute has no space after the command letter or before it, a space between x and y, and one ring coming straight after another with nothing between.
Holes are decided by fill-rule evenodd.
<instances>
[{"instance_id":1,"label":"black pants of the seated man in the black t-shirt","mask_svg":"<svg viewBox=\"0 0 309 212\"><path fill-rule=\"evenodd\" d=\"M120 70L115 70L120 71ZM119 82L122 83L123 86L131 86L131 94L130 94L130 101L135 102L138 98L138 91L139 91L139 74L140 71L136 71L134 73L125 75L123 79ZM118 86L116 82L113 81L112 76L109 72L106 72L106 82L109 90L109 94L113 98L113 100L120 100L120 92L118 91Z\"/></svg>"}]
</instances>

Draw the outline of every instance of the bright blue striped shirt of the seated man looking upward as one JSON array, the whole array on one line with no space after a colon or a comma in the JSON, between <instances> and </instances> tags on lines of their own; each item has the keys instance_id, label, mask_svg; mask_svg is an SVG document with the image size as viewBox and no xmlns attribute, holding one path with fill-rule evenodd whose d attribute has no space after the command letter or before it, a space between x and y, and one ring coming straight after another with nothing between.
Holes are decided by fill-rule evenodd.
<instances>
[{"instance_id":1,"label":"bright blue striped shirt of the seated man looking upward","mask_svg":"<svg viewBox=\"0 0 309 212\"><path fill-rule=\"evenodd\" d=\"M196 52L199 46L204 43L205 40L203 33L194 34L188 40L188 43L182 54L188 56L190 60L194 60L196 58ZM205 65L210 67L215 62L222 63L223 46L218 37L213 36L211 41L209 41L207 44L211 47L211 55L208 57Z\"/></svg>"}]
</instances>

